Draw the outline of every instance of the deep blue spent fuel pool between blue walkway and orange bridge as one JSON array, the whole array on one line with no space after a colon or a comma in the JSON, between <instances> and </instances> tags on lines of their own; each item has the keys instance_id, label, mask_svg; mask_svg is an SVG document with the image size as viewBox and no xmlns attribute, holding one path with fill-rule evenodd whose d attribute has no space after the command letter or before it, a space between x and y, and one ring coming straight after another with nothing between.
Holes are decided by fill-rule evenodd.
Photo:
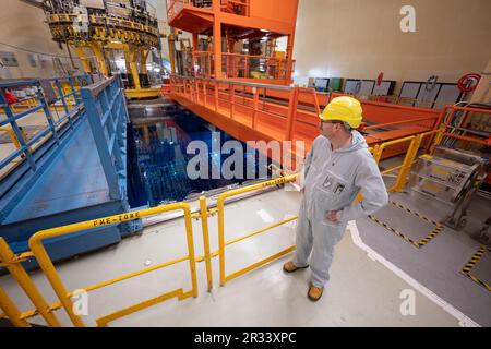
<instances>
[{"instance_id":1,"label":"deep blue spent fuel pool between blue walkway and orange bridge","mask_svg":"<svg viewBox=\"0 0 491 349\"><path fill-rule=\"evenodd\" d=\"M132 207L181 202L272 176L270 158L180 105L130 107L129 111L128 188ZM227 163L230 156L238 156L236 151L220 152L227 141L240 143L241 161ZM224 164L242 174L226 173Z\"/></svg>"}]
</instances>

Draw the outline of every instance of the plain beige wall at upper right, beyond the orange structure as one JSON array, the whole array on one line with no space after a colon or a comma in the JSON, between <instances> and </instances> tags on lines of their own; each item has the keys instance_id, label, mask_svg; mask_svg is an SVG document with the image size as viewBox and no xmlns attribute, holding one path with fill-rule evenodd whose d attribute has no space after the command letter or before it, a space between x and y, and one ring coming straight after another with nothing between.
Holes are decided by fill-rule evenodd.
<instances>
[{"instance_id":1,"label":"plain beige wall at upper right, beyond the orange structure","mask_svg":"<svg viewBox=\"0 0 491 349\"><path fill-rule=\"evenodd\" d=\"M416 9L416 33L399 27ZM308 76L456 82L491 58L490 0L300 0L294 58Z\"/></svg>"}]
</instances>

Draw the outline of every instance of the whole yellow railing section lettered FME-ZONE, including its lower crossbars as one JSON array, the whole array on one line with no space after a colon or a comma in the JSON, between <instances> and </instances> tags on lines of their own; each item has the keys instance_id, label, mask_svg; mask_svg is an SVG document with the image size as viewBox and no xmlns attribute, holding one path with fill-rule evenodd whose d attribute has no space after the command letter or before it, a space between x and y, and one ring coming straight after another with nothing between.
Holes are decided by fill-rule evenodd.
<instances>
[{"instance_id":1,"label":"whole yellow railing section lettered FME-ZONE, including its lower crossbars","mask_svg":"<svg viewBox=\"0 0 491 349\"><path fill-rule=\"evenodd\" d=\"M100 326L106 326L109 322L112 322L117 318L121 318L123 316L127 316L127 315L137 312L140 310L143 310L151 305L164 302L171 298L177 297L179 300L183 300L189 297L194 297L194 298L197 297L194 242L193 242L193 236L192 236L191 208L190 208L189 204L176 203L176 204L169 204L169 205L158 206L158 207L154 207L154 208L142 209L139 212L131 212L131 213L125 213L125 214L121 214L121 215L103 217L99 219L93 219L93 220L87 220L87 221L83 221L83 222L79 222L79 224L73 224L73 225L68 225L68 226L63 226L63 227L43 230L31 237L28 244L32 250L32 253L36 257L43 273L47 277L47 279L48 279L49 284L51 285L52 289L55 290L56 294L58 296L58 299L61 302L61 306L64 308L70 320L72 321L72 323L75 326L85 326L82 318L79 315L76 315L73 311L73 304L72 304L72 301L70 300L70 298L75 296L75 293L67 291L67 288L64 287L59 274L57 273L57 269L55 268L52 261L50 260L49 255L46 252L43 241L46 239L67 236L67 234L73 233L73 232L82 231L82 230L93 229L93 228L101 227L101 226L116 225L116 224L120 224L123 221L130 221L130 220L134 220L137 218L143 218L146 216L161 214L161 213L166 213L166 212L170 212L170 210L182 210L184 214L185 234L187 234L188 253L189 253L187 256L183 256L181 258L177 258L173 261L169 261L169 262L166 262L166 263L153 266L153 267L148 267L148 268L142 269L140 272L123 275L121 277L117 277L117 278L113 278L113 279L110 279L107 281L103 281L103 282L99 282L96 285L92 285L92 286L83 288L83 290L86 292L93 291L93 290L96 290L96 289L99 289L99 288L103 288L103 287L106 287L106 286L109 286L109 285L112 285L112 284L116 284L116 282L119 282L122 280L127 280L132 277L143 275L143 274L146 274L149 272L154 272L154 270L157 270L157 269L160 269L160 268L164 268L164 267L167 267L167 266L180 263L180 262L184 262L184 261L189 261L192 289L190 291L184 291L182 288L179 288L179 289L172 290L170 292L166 292L164 294L155 297L153 299L149 299L147 301L144 301L144 302L128 306L125 309L122 309L120 311L113 312L111 314L104 315L96 320L97 325L100 327ZM55 304L55 308L57 305L58 304ZM45 306L45 309L46 309L46 306ZM39 308L38 308L38 310L39 310Z\"/></svg>"}]
</instances>

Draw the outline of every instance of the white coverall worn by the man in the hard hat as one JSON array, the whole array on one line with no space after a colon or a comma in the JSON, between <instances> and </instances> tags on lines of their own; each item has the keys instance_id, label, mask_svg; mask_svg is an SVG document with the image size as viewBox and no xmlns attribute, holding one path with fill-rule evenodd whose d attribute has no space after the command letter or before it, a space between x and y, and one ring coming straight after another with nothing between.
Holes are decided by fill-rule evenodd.
<instances>
[{"instance_id":1,"label":"white coverall worn by the man in the hard hat","mask_svg":"<svg viewBox=\"0 0 491 349\"><path fill-rule=\"evenodd\" d=\"M311 282L322 288L330 279L334 246L349 220L371 215L387 204L388 195L367 142L351 131L351 144L333 151L323 135L312 143L303 164L304 193L297 224L294 264L309 265ZM358 193L363 201L352 205ZM328 221L327 210L339 210L338 221Z\"/></svg>"}]
</instances>

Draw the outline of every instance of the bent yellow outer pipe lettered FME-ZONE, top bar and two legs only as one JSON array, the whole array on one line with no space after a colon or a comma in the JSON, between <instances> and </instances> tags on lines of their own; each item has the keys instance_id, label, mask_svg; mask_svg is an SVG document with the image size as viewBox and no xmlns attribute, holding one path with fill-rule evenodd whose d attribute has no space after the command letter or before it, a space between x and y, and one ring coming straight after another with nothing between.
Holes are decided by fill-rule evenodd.
<instances>
[{"instance_id":1,"label":"bent yellow outer pipe lettered FME-ZONE, top bar and two legs only","mask_svg":"<svg viewBox=\"0 0 491 349\"><path fill-rule=\"evenodd\" d=\"M72 309L72 302L70 300L69 293L61 281L61 278L59 274L57 273L57 269L55 268L55 265L52 264L51 260L49 258L48 253L46 252L46 249L43 244L43 241L50 238L56 238L60 236L70 234L72 232L81 231L81 230L87 230L93 229L95 227L101 227L101 226L110 226L115 224L120 224L123 221L130 221L137 218L152 216L161 214L165 212L176 210L176 209L182 209L184 212L184 220L185 220L185 227L187 227L187 238L188 238L188 250L189 250L189 261L190 261L190 269L191 269L191 279L192 279L192 294L194 297L197 296L197 282L196 282L196 269L195 269L195 256L194 256L194 246L193 246L193 239L192 239L192 224L191 224L191 208L189 204L187 203L176 203L176 204L169 204L147 209L142 209L139 212L131 212L125 213L121 215L115 215L115 216L108 216L103 217L98 219L87 220L83 222L77 222L73 225L51 228L43 231L38 231L35 234L33 234L28 241L29 248L33 251L34 255L36 256L37 262L39 263L40 268L45 273L48 281L50 282L52 289L55 290L56 294L58 296L58 299L60 300L61 304L63 305L65 312L70 316L70 320L75 326L84 326L84 322L79 315L75 315Z\"/></svg>"}]
</instances>

